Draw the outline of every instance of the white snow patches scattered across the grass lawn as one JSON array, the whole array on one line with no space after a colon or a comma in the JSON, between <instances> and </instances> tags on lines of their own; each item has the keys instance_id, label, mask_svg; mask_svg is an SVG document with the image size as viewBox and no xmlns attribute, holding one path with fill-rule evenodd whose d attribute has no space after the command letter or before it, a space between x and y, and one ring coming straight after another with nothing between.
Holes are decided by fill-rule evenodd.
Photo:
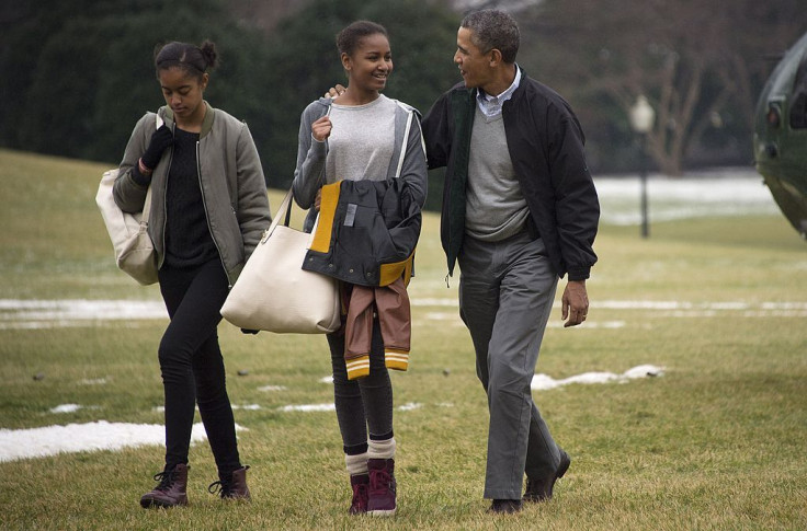
<instances>
[{"instance_id":1,"label":"white snow patches scattered across the grass lawn","mask_svg":"<svg viewBox=\"0 0 807 531\"><path fill-rule=\"evenodd\" d=\"M602 205L602 222L606 224L638 224L639 178L594 177ZM752 169L728 169L682 178L666 178L651 175L648 182L649 216L651 222L701 216L770 215L781 216L762 178ZM452 308L441 312L440 308L456 307L456 299L413 299L413 307L429 307L425 319L457 321ZM732 315L754 318L760 315L807 316L806 303L692 303L686 301L603 301L620 309L643 309L664 316L715 316L725 312ZM649 304L649 305L648 305ZM437 310L437 311L434 311ZM122 300L13 300L0 299L0 330L42 328L59 326L98 326L104 322L136 323L139 320L164 320L167 313L161 301ZM624 322L587 323L588 328L620 327ZM659 377L663 368L639 366L623 373L587 372L560 380L547 374L536 374L532 389L552 390L561 385L581 383L627 382L635 378ZM323 378L329 382L330 377ZM83 380L82 385L105 385L106 379ZM266 392L283 392L285 388L264 385ZM423 407L424 404L408 403L398 407L401 412ZM434 404L451 407L451 404ZM257 409L260 405L236 405L237 408ZM54 415L71 413L80 408L99 409L93 405L54 404ZM289 404L280 408L288 413L331 412L333 404ZM103 412L99 411L99 416ZM162 445L164 429L161 425L136 425L98 420L88 424L55 425L34 429L0 429L0 461L53 455L59 452L120 450L143 445ZM193 440L206 438L201 425L194 426Z\"/></svg>"}]
</instances>

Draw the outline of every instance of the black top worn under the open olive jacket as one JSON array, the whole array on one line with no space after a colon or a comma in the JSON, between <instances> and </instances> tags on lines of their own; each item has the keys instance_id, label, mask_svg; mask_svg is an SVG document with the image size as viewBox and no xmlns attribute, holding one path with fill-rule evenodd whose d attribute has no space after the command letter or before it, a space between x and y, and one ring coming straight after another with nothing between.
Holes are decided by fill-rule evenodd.
<instances>
[{"instance_id":1,"label":"black top worn under the open olive jacket","mask_svg":"<svg viewBox=\"0 0 807 531\"><path fill-rule=\"evenodd\" d=\"M216 258L196 163L197 132L174 131L166 191L166 264L194 267Z\"/></svg>"}]
</instances>

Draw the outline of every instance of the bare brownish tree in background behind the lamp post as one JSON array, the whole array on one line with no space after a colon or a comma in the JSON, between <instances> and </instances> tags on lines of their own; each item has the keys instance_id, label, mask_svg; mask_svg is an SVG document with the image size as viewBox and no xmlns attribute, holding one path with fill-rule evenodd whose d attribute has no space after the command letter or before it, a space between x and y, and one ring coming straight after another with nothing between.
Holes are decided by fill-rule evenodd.
<instances>
[{"instance_id":1,"label":"bare brownish tree in background behind the lamp post","mask_svg":"<svg viewBox=\"0 0 807 531\"><path fill-rule=\"evenodd\" d=\"M649 155L679 175L687 149L731 116L751 130L766 76L760 57L807 27L803 0L546 0L523 26L566 85L606 95L627 113L639 95L656 109ZM522 32L524 33L524 32ZM785 44L782 44L785 43Z\"/></svg>"}]
</instances>

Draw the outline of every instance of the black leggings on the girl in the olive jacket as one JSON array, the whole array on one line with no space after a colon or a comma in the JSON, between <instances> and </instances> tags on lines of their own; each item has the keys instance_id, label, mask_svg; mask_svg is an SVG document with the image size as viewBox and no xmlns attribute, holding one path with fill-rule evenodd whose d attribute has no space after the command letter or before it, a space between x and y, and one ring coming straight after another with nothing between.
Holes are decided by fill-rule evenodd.
<instances>
[{"instance_id":1,"label":"black leggings on the girl in the olive jacket","mask_svg":"<svg viewBox=\"0 0 807 531\"><path fill-rule=\"evenodd\" d=\"M159 348L166 392L166 465L187 463L196 403L219 475L240 469L236 424L225 384L216 327L228 293L221 262L159 270L171 322Z\"/></svg>"}]
</instances>

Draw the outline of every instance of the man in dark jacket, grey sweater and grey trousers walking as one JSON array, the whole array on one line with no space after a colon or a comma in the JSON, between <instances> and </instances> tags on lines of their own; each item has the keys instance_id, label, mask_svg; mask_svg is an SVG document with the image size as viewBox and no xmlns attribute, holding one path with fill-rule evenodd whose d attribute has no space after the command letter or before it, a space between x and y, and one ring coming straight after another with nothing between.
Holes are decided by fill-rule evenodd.
<instances>
[{"instance_id":1,"label":"man in dark jacket, grey sweater and grey trousers walking","mask_svg":"<svg viewBox=\"0 0 807 531\"><path fill-rule=\"evenodd\" d=\"M570 464L530 384L558 278L565 326L586 321L600 217L583 134L557 93L515 65L519 28L497 10L467 15L454 62L464 83L422 122L429 168L446 166L441 240L461 268L459 312L490 411L485 497L491 512L552 498Z\"/></svg>"}]
</instances>

